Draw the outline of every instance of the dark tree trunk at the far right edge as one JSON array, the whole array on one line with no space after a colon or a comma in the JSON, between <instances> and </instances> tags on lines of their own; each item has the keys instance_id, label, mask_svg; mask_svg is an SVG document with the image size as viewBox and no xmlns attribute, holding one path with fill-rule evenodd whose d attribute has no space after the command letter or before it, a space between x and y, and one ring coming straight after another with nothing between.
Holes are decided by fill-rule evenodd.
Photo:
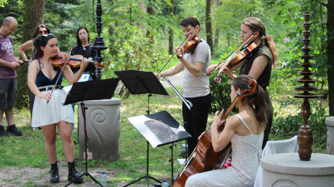
<instances>
[{"instance_id":1,"label":"dark tree trunk at the far right edge","mask_svg":"<svg viewBox=\"0 0 334 187\"><path fill-rule=\"evenodd\" d=\"M334 0L327 3L327 63L329 115L334 116Z\"/></svg>"}]
</instances>

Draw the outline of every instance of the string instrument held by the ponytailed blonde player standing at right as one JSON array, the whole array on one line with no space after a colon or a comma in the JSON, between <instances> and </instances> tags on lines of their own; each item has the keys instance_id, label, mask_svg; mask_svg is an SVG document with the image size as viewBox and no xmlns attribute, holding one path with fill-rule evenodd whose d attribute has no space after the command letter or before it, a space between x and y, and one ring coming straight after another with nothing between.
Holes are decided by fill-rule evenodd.
<instances>
[{"instance_id":1,"label":"string instrument held by the ponytailed blonde player standing at right","mask_svg":"<svg viewBox=\"0 0 334 187\"><path fill-rule=\"evenodd\" d=\"M224 66L222 66L222 68L220 68L220 70L217 73L217 76L214 77L213 80L215 82L220 82L221 81L221 76L222 76L222 71L224 70L225 67L231 69L231 68L237 66L238 64L242 63L242 61L246 57L248 57L255 48L257 48L257 45L255 43L251 43L243 51L241 51L239 54L234 56L233 59L228 60L227 63L225 63Z\"/></svg>"}]
</instances>

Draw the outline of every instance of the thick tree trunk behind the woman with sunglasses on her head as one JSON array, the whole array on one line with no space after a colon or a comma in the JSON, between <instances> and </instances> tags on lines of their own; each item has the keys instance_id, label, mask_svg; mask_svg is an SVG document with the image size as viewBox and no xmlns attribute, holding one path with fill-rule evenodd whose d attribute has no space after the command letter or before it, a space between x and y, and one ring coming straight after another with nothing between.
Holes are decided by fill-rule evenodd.
<instances>
[{"instance_id":1,"label":"thick tree trunk behind the woman with sunglasses on her head","mask_svg":"<svg viewBox=\"0 0 334 187\"><path fill-rule=\"evenodd\" d=\"M22 43L32 38L34 29L44 22L45 0L26 0L25 13L23 18ZM27 57L30 52L26 51ZM29 88L27 82L28 66L16 69L17 72L17 96L14 106L16 108L28 108L29 106Z\"/></svg>"}]
</instances>

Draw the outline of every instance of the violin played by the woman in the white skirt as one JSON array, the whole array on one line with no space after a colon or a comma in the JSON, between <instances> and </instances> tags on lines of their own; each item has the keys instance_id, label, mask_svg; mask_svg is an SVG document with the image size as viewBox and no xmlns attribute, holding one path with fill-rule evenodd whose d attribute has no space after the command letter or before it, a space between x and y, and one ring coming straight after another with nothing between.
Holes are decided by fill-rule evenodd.
<instances>
[{"instance_id":1,"label":"violin played by the woman in the white skirt","mask_svg":"<svg viewBox=\"0 0 334 187\"><path fill-rule=\"evenodd\" d=\"M68 57L69 59L67 60ZM58 52L57 55L51 58L51 64L54 67L60 67L65 64L69 65L72 68L78 68L81 65L82 59L82 55L68 56L66 52ZM103 65L98 63L97 61L89 60L89 63L93 63L96 67L103 68Z\"/></svg>"}]
</instances>

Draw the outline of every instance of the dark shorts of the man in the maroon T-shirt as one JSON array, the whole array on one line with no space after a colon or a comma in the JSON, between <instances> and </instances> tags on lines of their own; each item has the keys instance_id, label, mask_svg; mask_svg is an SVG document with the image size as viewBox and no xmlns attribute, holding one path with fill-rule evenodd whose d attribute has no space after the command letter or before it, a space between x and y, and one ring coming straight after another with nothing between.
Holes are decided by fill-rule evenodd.
<instances>
[{"instance_id":1,"label":"dark shorts of the man in the maroon T-shirt","mask_svg":"<svg viewBox=\"0 0 334 187\"><path fill-rule=\"evenodd\" d=\"M10 109L14 106L17 93L17 77L0 79L0 109Z\"/></svg>"}]
</instances>

